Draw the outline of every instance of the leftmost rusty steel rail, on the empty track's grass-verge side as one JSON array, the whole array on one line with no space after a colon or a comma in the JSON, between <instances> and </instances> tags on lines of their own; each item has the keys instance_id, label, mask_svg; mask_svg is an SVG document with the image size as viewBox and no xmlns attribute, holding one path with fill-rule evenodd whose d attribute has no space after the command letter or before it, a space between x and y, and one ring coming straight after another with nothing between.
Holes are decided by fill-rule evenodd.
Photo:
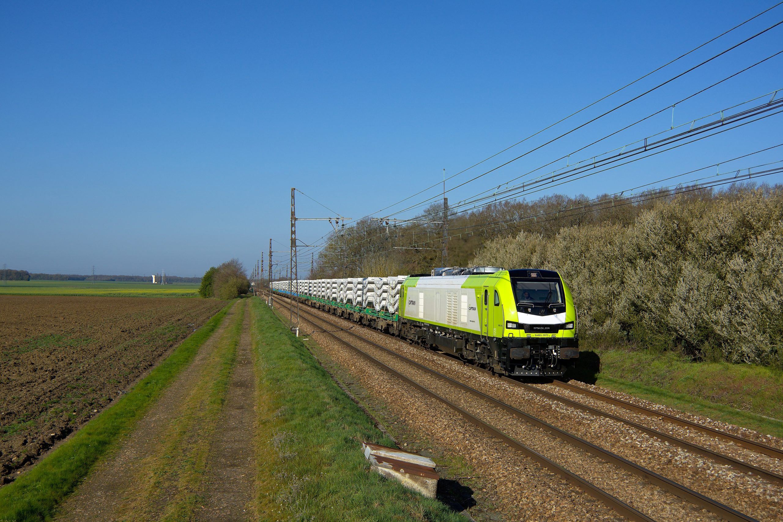
<instances>
[{"instance_id":1,"label":"leftmost rusty steel rail, on the empty track's grass-verge side","mask_svg":"<svg viewBox=\"0 0 783 522\"><path fill-rule=\"evenodd\" d=\"M282 307L280 306L280 303L277 303L276 306L278 308ZM320 317L317 317L314 314L309 314L308 312L305 312L305 315L320 319ZM316 328L323 329L323 327L319 326L318 324L316 324L310 319L305 318L305 321L309 322ZM328 321L324 321L323 319L321 319L321 321L326 322L327 324L331 324ZM340 327L337 326L337 328ZM523 455L527 456L529 459L532 459L534 462L537 462L543 468L553 470L554 473L557 473L557 475L564 478L569 484L572 484L573 486L576 486L576 488L580 488L583 491L586 491L588 495L590 495L593 498L596 498L601 502L604 502L606 506L608 506L610 509L613 509L616 513L619 513L623 517L626 517L629 520L637 520L638 522L656 522L655 519L652 519L647 515L645 515L644 513L641 513L637 509L634 509L632 506L629 506L628 504L626 504L626 502L622 502L622 500L616 498L614 495L608 493L607 491L598 488L590 481L584 479L583 477L579 477L579 475L577 475L576 473L572 473L568 469L565 469L563 466L557 464L557 462L548 459L546 456L541 455L538 451L529 448L525 444L522 444L520 441L514 439L514 437L509 437L507 434L498 430L496 427L492 426L491 424L482 421L482 419L478 419L478 417L476 417L475 415L469 413L468 411L465 411L464 409L460 408L456 404L453 404L446 398L441 397L434 391L429 390L425 386L420 385L418 382L414 381L413 379L406 377L406 375L402 375L400 372L398 372L394 368L391 368L387 364L378 361L375 357L371 356L369 353L365 353L363 350L357 348L356 346L353 346L351 343L348 343L348 341L346 341L345 339L341 339L337 335L334 335L333 332L329 332L328 330L325 329L323 330L323 332L326 333L327 335L330 335L335 340L339 341L340 343L347 346L351 350L354 350L360 356L365 357L368 361L377 365L377 367L381 368L384 372L394 375L398 379L402 380L402 382L406 382L410 386L413 386L413 388L415 388L416 390L419 390L420 392L434 398L436 401L440 401L443 404L446 404L447 407L458 412L465 419L467 419L468 422L471 422L471 424L473 424L474 426L481 428L486 433L489 433L490 436L503 441L505 444L511 446L511 448L520 451ZM752 520L752 519L737 519L737 520Z\"/></svg>"}]
</instances>

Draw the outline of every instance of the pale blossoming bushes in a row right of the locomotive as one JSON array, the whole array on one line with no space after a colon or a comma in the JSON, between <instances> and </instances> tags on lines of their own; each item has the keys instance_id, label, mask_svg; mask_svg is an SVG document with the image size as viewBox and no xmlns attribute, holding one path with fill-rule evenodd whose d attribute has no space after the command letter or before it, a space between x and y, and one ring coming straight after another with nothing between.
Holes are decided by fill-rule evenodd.
<instances>
[{"instance_id":1,"label":"pale blossoming bushes in a row right of the locomotive","mask_svg":"<svg viewBox=\"0 0 783 522\"><path fill-rule=\"evenodd\" d=\"M559 270L580 336L716 361L780 364L783 191L659 201L627 224L488 241L478 265Z\"/></svg>"}]
</instances>

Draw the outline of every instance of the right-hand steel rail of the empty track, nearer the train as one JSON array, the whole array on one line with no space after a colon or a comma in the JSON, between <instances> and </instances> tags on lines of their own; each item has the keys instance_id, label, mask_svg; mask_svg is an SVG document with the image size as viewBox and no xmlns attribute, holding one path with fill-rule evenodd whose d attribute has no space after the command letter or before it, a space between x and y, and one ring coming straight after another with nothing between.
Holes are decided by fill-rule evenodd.
<instances>
[{"instance_id":1,"label":"right-hand steel rail of the empty track, nearer the train","mask_svg":"<svg viewBox=\"0 0 783 522\"><path fill-rule=\"evenodd\" d=\"M290 301L289 301L290 302ZM443 375L440 372L436 372L435 370L432 370L431 368L428 368L424 366L423 364L417 363L416 361L410 360L408 357L405 357L399 353L396 353L394 350L390 350L386 348L385 346L381 346L377 343L374 343L373 341L370 341L369 339L363 338L361 335L356 334L355 332L351 332L350 330L347 330L345 328L341 328L338 324L334 324L333 322L327 321L326 319L323 319L323 317L318 317L315 314L312 314L309 311L305 311L305 314L309 315L310 317L316 317L318 321L323 321L326 324L330 324L331 326L334 326L335 328L338 328L341 332L348 333L349 335L352 335L356 339L361 340L363 343L370 344L372 346L375 346L381 350L384 350L384 352L389 353L395 357L398 357L402 361L405 361L408 364L413 365L416 368L420 368L424 372L428 372L431 375L434 375L438 379L443 379L448 382L451 382L454 386L460 388L461 390L467 391L468 393L471 393L475 395L476 397L482 398L483 400L489 402L490 404L493 404L494 406L503 409L504 411L507 411L511 413L512 415L516 415L518 417L521 417L522 419L525 419L527 422L532 424L533 426L537 426L540 429L547 431L548 433L551 433L555 435L556 437L559 437L563 440L566 440L569 444L572 444L578 448L583 449L584 451L590 453L591 455L594 455L600 459L604 459L607 462L611 462L615 466L619 466L622 469L626 469L630 473L633 473L644 480L647 480L651 484L655 484L659 488L669 491L673 493L674 495L679 496L680 498L683 498L684 500L687 500L687 502L691 502L692 504L695 504L696 506L701 506L704 509L707 509L708 511L711 511L720 517L723 517L725 520L730 520L731 522L739 521L739 520L756 520L752 517L748 517L744 513L740 513L736 511L735 509L732 509L731 507L725 506L721 502L717 502L713 498L709 498L705 495L702 495L701 493L698 493L698 491L693 491L690 488L687 488L686 486L682 484L677 484L677 482L674 482L673 480L670 480L666 477L662 477L658 473L655 473L654 471L651 471L649 469L646 469L642 466L639 466L638 464L631 462L627 459L622 458L619 455L616 455L615 453L612 453L612 451L608 451L604 448L601 448L599 446L596 446L595 444L592 444L588 442L587 440L584 440L580 437L576 437L575 435L572 435L571 433L565 432L564 430L561 430L560 428L557 428L557 426L553 426L549 424L548 422L545 422L541 419L538 419L534 417L533 415L529 415L525 411L521 411L518 408L514 408L513 406L503 403L502 401L496 400L494 397L490 397L489 395L486 395L485 393L482 393L478 390L475 390L474 388L471 388L470 386L464 385L462 382L456 381L455 379L452 379L451 377L447 375ZM313 321L309 321L311 324L315 324ZM323 328L323 327L319 327ZM330 336L340 339L342 343L350 345L345 339L341 339L340 337L337 337L337 335L334 334L334 332L328 332L327 330L324 330L327 334ZM359 348L352 346L354 350L358 350L359 352L364 353ZM372 356L368 357L372 358ZM373 358L374 360L374 358ZM383 364L383 363L381 363ZM533 451L533 450L531 450ZM622 502L622 501L620 501Z\"/></svg>"}]
</instances>

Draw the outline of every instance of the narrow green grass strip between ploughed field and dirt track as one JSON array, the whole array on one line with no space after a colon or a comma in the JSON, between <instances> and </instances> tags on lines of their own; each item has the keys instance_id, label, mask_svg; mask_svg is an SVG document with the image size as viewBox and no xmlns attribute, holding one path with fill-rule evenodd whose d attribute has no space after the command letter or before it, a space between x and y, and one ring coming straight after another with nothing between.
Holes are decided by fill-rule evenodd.
<instances>
[{"instance_id":1,"label":"narrow green grass strip between ploughed field and dirt track","mask_svg":"<svg viewBox=\"0 0 783 522\"><path fill-rule=\"evenodd\" d=\"M231 306L231 305L229 305ZM47 520L92 465L132 429L166 386L196 355L229 309L226 306L185 339L164 361L106 411L85 424L11 484L0 488L0 520Z\"/></svg>"}]
</instances>

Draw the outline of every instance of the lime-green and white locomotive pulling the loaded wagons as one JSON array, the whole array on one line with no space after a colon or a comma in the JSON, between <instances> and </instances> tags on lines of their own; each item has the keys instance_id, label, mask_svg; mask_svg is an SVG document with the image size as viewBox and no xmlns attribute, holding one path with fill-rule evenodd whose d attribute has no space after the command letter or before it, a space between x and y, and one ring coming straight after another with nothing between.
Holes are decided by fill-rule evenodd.
<instances>
[{"instance_id":1,"label":"lime-green and white locomotive pulling the loaded wagons","mask_svg":"<svg viewBox=\"0 0 783 522\"><path fill-rule=\"evenodd\" d=\"M560 274L455 271L406 278L402 337L506 375L563 375L579 357L576 307Z\"/></svg>"}]
</instances>

